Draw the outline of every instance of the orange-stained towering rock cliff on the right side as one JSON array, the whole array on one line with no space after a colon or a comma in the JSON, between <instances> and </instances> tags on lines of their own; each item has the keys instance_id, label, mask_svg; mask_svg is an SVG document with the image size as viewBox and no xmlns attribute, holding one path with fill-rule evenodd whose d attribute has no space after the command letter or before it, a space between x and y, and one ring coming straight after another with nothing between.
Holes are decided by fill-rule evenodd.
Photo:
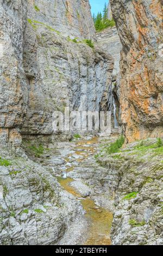
<instances>
[{"instance_id":1,"label":"orange-stained towering rock cliff on the right side","mask_svg":"<svg viewBox=\"0 0 163 256\"><path fill-rule=\"evenodd\" d=\"M123 130L128 141L162 136L162 1L110 3L123 45Z\"/></svg>"}]
</instances>

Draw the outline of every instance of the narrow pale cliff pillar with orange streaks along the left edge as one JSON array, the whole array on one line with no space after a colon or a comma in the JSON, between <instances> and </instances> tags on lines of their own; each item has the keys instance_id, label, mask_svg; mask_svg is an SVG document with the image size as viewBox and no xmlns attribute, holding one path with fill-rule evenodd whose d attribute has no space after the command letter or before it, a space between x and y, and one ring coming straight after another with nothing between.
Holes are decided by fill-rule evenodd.
<instances>
[{"instance_id":1,"label":"narrow pale cliff pillar with orange streaks along the left edge","mask_svg":"<svg viewBox=\"0 0 163 256\"><path fill-rule=\"evenodd\" d=\"M27 1L1 1L0 141L3 143L21 143L18 132L28 101L26 76L23 70L26 18Z\"/></svg>"}]
</instances>

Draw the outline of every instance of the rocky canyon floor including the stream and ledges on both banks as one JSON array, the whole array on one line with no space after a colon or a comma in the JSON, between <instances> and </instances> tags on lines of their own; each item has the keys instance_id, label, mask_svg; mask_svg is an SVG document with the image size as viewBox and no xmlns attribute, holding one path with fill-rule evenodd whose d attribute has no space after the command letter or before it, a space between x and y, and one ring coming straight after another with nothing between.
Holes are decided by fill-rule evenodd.
<instances>
[{"instance_id":1,"label":"rocky canyon floor including the stream and ledges on both banks","mask_svg":"<svg viewBox=\"0 0 163 256\"><path fill-rule=\"evenodd\" d=\"M31 160L8 156L11 166L0 168L1 243L109 245L113 212L113 245L162 245L162 147L148 139L106 154L115 139L60 142L39 157L25 142Z\"/></svg>"}]
</instances>

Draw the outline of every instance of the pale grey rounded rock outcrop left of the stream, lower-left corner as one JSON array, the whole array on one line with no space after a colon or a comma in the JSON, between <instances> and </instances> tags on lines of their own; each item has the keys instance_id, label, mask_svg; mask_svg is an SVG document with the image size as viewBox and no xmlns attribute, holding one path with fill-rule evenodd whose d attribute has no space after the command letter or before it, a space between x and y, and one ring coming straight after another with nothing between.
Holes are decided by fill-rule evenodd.
<instances>
[{"instance_id":1,"label":"pale grey rounded rock outcrop left of the stream, lower-left corner","mask_svg":"<svg viewBox=\"0 0 163 256\"><path fill-rule=\"evenodd\" d=\"M72 223L79 238L85 227L82 205L61 190L53 168L23 151L14 157L1 148L1 157L0 245L54 245L68 232L73 239Z\"/></svg>"}]
</instances>

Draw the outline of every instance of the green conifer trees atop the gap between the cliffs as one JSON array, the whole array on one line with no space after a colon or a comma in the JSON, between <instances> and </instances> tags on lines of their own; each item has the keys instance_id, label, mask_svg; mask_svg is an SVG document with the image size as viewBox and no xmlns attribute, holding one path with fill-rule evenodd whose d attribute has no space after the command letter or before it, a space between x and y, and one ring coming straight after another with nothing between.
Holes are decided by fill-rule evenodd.
<instances>
[{"instance_id":1,"label":"green conifer trees atop the gap between the cliffs","mask_svg":"<svg viewBox=\"0 0 163 256\"><path fill-rule=\"evenodd\" d=\"M104 6L103 15L102 13L98 13L97 16L93 14L93 21L95 23L96 31L102 31L105 28L115 26L115 21L113 19L112 20L108 19L108 7L106 3Z\"/></svg>"}]
</instances>

